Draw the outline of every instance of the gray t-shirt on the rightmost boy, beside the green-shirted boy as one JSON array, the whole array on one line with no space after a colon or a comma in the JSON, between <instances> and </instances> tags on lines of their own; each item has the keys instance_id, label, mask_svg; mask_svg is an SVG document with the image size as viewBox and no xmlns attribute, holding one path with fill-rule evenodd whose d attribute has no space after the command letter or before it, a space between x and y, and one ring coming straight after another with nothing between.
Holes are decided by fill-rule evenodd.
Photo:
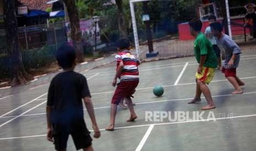
<instances>
[{"instance_id":1,"label":"gray t-shirt on the rightmost boy, beside the green-shirted boy","mask_svg":"<svg viewBox=\"0 0 256 151\"><path fill-rule=\"evenodd\" d=\"M240 60L240 54L242 53L239 46L234 42L232 38L224 34L224 36L220 39L216 38L217 44L221 48L222 59L224 59L224 68L237 68ZM236 59L232 67L228 66L228 62L230 61L232 55L236 55Z\"/></svg>"}]
</instances>

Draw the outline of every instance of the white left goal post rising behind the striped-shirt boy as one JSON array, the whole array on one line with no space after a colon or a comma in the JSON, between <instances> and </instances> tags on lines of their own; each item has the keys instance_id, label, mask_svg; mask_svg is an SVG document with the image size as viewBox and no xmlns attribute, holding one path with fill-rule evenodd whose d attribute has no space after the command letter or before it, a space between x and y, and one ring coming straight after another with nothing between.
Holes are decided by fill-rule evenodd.
<instances>
[{"instance_id":1,"label":"white left goal post rising behind the striped-shirt boy","mask_svg":"<svg viewBox=\"0 0 256 151\"><path fill-rule=\"evenodd\" d=\"M155 0L131 0L130 1L130 14L132 15L134 42L135 42L135 48L136 48L136 53L138 58L140 55L140 46L139 46L139 36L138 36L138 30L137 30L137 24L136 24L134 3L146 2L146 1L155 1Z\"/></svg>"}]
</instances>

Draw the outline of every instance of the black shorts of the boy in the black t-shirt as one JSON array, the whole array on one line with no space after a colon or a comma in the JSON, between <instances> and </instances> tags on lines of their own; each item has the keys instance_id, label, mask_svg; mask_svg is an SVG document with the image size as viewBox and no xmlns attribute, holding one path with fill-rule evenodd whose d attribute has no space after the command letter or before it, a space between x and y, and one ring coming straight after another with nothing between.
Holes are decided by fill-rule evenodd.
<instances>
[{"instance_id":1,"label":"black shorts of the boy in the black t-shirt","mask_svg":"<svg viewBox=\"0 0 256 151\"><path fill-rule=\"evenodd\" d=\"M79 121L72 126L53 125L53 139L56 150L67 148L69 135L72 136L77 150L91 146L92 138L85 122Z\"/></svg>"}]
</instances>

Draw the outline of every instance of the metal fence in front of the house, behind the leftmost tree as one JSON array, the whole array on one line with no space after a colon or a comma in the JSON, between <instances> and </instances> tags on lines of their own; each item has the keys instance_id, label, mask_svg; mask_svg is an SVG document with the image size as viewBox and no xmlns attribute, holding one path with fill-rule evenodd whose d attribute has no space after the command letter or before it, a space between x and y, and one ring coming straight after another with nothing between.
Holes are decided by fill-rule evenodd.
<instances>
[{"instance_id":1,"label":"metal fence in front of the house, behind the leftmost tree","mask_svg":"<svg viewBox=\"0 0 256 151\"><path fill-rule=\"evenodd\" d=\"M21 50L39 49L45 45L58 45L67 41L64 22L24 26L18 28ZM5 30L0 30L0 54L7 53Z\"/></svg>"}]
</instances>

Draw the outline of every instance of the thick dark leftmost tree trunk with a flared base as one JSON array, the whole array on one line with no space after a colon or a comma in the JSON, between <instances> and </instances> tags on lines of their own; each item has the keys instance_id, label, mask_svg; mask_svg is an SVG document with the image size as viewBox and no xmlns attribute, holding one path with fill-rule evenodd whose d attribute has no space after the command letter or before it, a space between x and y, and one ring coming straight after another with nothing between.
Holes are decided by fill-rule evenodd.
<instances>
[{"instance_id":1,"label":"thick dark leftmost tree trunk with a flared base","mask_svg":"<svg viewBox=\"0 0 256 151\"><path fill-rule=\"evenodd\" d=\"M7 51L11 85L24 84L32 78L25 72L18 42L18 22L14 0L4 0L4 28L6 30Z\"/></svg>"}]
</instances>

